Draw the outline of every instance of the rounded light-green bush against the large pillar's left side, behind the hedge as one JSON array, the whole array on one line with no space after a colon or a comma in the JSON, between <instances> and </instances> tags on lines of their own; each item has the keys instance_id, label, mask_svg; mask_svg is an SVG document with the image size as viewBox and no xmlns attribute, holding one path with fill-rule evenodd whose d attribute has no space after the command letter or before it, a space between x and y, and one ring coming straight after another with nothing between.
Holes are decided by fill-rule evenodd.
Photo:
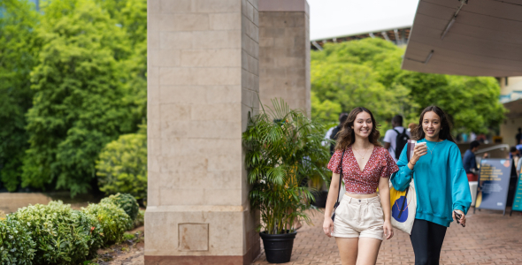
<instances>
[{"instance_id":1,"label":"rounded light-green bush against the large pillar's left side, behind the hedge","mask_svg":"<svg viewBox=\"0 0 522 265\"><path fill-rule=\"evenodd\" d=\"M147 196L147 135L132 133L108 143L96 161L100 190Z\"/></svg>"}]
</instances>

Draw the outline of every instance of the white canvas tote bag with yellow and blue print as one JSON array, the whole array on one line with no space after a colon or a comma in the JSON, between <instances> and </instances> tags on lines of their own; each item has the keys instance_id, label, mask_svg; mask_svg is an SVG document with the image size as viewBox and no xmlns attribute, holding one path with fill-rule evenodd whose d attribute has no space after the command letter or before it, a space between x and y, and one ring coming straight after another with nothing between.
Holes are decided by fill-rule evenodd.
<instances>
[{"instance_id":1,"label":"white canvas tote bag with yellow and blue print","mask_svg":"<svg viewBox=\"0 0 522 265\"><path fill-rule=\"evenodd\" d=\"M408 162L410 162L411 155L413 155L413 148L415 148L415 140L408 140L406 148L408 148L406 149L406 155ZM395 190L390 181L389 197L392 211L392 226L395 229L411 235L411 228L413 227L413 221L415 221L415 214L417 213L417 193L415 192L413 179L411 179L410 186L403 192Z\"/></svg>"}]
</instances>

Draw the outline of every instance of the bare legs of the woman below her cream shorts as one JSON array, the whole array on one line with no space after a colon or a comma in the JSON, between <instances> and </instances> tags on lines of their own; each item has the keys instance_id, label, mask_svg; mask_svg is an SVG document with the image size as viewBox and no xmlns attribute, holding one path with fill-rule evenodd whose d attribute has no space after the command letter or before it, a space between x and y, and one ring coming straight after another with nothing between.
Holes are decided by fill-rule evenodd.
<instances>
[{"instance_id":1,"label":"bare legs of the woman below her cream shorts","mask_svg":"<svg viewBox=\"0 0 522 265\"><path fill-rule=\"evenodd\" d=\"M380 243L372 238L335 238L342 265L374 265L377 262Z\"/></svg>"}]
</instances>

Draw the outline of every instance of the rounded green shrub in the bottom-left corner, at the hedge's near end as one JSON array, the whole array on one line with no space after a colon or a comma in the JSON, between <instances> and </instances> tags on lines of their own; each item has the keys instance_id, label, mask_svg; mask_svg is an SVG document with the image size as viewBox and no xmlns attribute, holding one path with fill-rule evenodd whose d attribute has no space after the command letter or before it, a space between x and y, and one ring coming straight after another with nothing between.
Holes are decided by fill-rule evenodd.
<instances>
[{"instance_id":1,"label":"rounded green shrub in the bottom-left corner, at the hedge's near end","mask_svg":"<svg viewBox=\"0 0 522 265\"><path fill-rule=\"evenodd\" d=\"M18 220L7 216L0 221L0 262L1 264L33 264L35 241L31 232Z\"/></svg>"}]
</instances>

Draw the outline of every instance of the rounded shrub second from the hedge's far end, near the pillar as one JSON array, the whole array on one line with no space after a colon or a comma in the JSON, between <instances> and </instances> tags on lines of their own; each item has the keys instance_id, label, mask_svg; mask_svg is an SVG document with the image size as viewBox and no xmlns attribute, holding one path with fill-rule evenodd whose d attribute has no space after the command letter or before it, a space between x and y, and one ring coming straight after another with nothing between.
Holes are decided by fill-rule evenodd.
<instances>
[{"instance_id":1,"label":"rounded shrub second from the hedge's far end, near the pillar","mask_svg":"<svg viewBox=\"0 0 522 265\"><path fill-rule=\"evenodd\" d=\"M113 203L89 204L87 208L83 208L83 212L95 216L101 224L104 246L121 241L123 233L133 223L125 211Z\"/></svg>"}]
</instances>

